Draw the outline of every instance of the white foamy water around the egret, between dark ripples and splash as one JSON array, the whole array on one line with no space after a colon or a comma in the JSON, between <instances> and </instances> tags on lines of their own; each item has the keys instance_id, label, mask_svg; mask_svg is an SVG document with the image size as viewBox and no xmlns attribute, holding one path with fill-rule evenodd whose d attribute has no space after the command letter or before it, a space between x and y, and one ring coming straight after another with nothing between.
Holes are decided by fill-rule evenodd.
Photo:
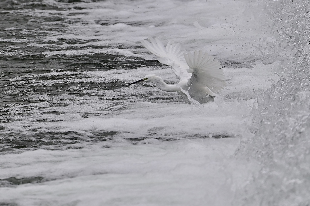
<instances>
[{"instance_id":1,"label":"white foamy water around the egret, between dark ripples and splash","mask_svg":"<svg viewBox=\"0 0 310 206\"><path fill-rule=\"evenodd\" d=\"M61 7L61 3L46 2ZM289 72L283 65L291 54L275 51L270 46L275 44L275 38L270 34L264 5L246 0L102 1L74 5L84 9L78 10L79 22L71 24L71 33L51 32L46 41L96 39L86 44L126 48L59 50L45 52L47 56L117 53L128 58L155 59L145 48L134 46L141 46L139 41L149 36L157 36L165 43L174 40L189 51L202 49L215 56L224 66L227 86L214 102L203 105L181 101L179 95L159 91L157 87L147 86L148 83L92 90L95 95L91 97L28 96L47 102L38 105L33 115L7 124L8 128L21 132L25 127L42 132L75 131L85 139L93 131L117 133L110 141L89 142L82 149L50 150L46 146L46 149L2 154L0 179L43 177L47 181L0 187L1 202L21 206L232 205L236 191L260 169L255 161L232 158L240 141L254 137L251 129L256 96L277 82L279 75ZM77 11L32 12L35 15L57 12L70 19L73 18L70 14ZM115 19L115 24L99 25L94 19L103 22ZM135 22L138 23L132 24ZM89 76L89 82L104 84L113 80L131 83L155 73L167 82L176 82L168 67L111 69L78 75ZM139 97L143 94L154 99L172 96L178 101L146 101ZM96 95L127 96L126 100L109 101ZM49 108L49 103L57 99L67 99L68 106L57 107L57 111L66 113L44 113L55 109ZM83 118L84 113L95 116ZM55 121L31 120L40 118ZM228 138L213 138L221 135ZM130 140L136 138L142 139L133 144ZM242 194L237 198L240 197Z\"/></svg>"}]
</instances>

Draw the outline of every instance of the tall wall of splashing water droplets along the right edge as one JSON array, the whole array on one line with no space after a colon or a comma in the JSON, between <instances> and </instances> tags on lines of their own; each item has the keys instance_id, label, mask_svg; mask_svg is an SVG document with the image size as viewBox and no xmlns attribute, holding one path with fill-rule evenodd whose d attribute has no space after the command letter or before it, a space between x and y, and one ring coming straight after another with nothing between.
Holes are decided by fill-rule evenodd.
<instances>
[{"instance_id":1,"label":"tall wall of splashing water droplets along the right edge","mask_svg":"<svg viewBox=\"0 0 310 206\"><path fill-rule=\"evenodd\" d=\"M307 0L268 2L279 46L297 53L289 78L258 98L255 138L243 142L236 156L258 160L262 169L237 192L243 198L235 205L310 204L309 5Z\"/></svg>"}]
</instances>

